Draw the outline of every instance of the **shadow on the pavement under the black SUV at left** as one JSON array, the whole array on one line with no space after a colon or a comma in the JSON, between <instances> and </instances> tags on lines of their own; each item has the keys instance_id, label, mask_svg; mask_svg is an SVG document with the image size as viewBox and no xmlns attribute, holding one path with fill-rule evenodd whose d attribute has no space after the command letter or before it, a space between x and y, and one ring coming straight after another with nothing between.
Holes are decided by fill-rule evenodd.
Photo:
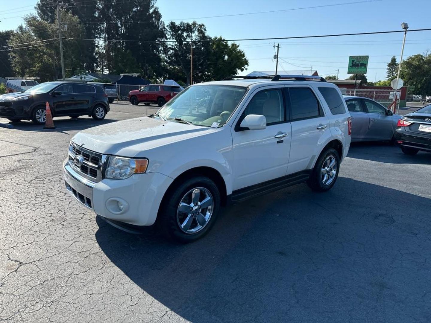
<instances>
[{"instance_id":1,"label":"shadow on the pavement under the black SUV at left","mask_svg":"<svg viewBox=\"0 0 431 323\"><path fill-rule=\"evenodd\" d=\"M57 131L62 132L62 130L84 130L90 127L96 127L101 124L107 124L111 122L115 122L117 120L105 118L103 120L97 121L93 118L80 117L76 119L72 118L55 118L54 125L56 128L54 129L44 129L43 124L34 124L31 121L20 121L20 122L9 122L9 124L13 125L14 129L23 130L23 131Z\"/></svg>"}]
</instances>

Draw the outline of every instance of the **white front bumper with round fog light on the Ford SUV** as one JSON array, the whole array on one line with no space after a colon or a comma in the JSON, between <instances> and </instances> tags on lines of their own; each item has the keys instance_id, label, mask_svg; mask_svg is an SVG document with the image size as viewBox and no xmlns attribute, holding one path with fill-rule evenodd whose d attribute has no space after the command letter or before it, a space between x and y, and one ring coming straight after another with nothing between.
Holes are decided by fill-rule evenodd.
<instances>
[{"instance_id":1,"label":"white front bumper with round fog light on the Ford SUV","mask_svg":"<svg viewBox=\"0 0 431 323\"><path fill-rule=\"evenodd\" d=\"M74 171L69 161L63 164L63 178L66 189L82 205L106 219L135 226L154 224L162 198L173 181L160 173L146 173L96 183Z\"/></svg>"}]
</instances>

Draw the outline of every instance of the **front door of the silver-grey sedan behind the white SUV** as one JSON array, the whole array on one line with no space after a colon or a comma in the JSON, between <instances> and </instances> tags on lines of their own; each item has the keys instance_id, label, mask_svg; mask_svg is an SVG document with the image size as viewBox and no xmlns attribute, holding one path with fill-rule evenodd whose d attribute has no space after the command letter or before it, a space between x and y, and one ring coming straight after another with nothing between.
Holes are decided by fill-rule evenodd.
<instances>
[{"instance_id":1,"label":"front door of the silver-grey sedan behind the white SUV","mask_svg":"<svg viewBox=\"0 0 431 323\"><path fill-rule=\"evenodd\" d=\"M367 138L370 140L390 140L394 135L394 121L381 104L370 99L363 99L370 118Z\"/></svg>"}]
</instances>

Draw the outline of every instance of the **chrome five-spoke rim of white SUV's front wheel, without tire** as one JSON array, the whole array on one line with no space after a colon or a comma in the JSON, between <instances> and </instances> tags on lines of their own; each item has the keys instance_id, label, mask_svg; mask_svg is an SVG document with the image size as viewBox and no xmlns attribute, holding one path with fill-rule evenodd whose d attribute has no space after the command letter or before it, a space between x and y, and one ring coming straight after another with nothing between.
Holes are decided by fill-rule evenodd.
<instances>
[{"instance_id":1,"label":"chrome five-spoke rim of white SUV's front wheel, without tire","mask_svg":"<svg viewBox=\"0 0 431 323\"><path fill-rule=\"evenodd\" d=\"M197 233L208 224L214 199L208 189L197 187L187 192L177 209L177 222L185 233Z\"/></svg>"}]
</instances>

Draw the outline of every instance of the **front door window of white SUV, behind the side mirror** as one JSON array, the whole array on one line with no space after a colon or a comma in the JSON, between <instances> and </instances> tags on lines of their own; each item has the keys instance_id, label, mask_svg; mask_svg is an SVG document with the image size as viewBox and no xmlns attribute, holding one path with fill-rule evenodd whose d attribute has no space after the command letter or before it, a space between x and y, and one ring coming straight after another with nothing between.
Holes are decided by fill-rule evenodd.
<instances>
[{"instance_id":1,"label":"front door window of white SUV, behind the side mirror","mask_svg":"<svg viewBox=\"0 0 431 323\"><path fill-rule=\"evenodd\" d=\"M244 110L240 120L244 120L246 115L264 115L267 125L284 121L284 104L281 90L263 90L256 93Z\"/></svg>"}]
</instances>

